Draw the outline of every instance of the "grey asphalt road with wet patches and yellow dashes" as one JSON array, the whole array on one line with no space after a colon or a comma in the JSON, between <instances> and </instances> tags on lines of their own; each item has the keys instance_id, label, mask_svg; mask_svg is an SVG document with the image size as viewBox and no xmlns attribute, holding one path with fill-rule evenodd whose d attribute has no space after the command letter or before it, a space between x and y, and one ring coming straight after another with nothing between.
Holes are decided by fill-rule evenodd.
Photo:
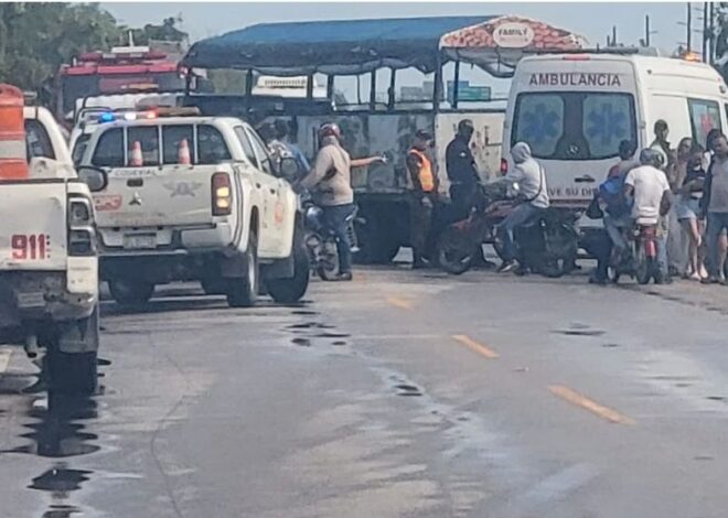
<instances>
[{"instance_id":1,"label":"grey asphalt road with wet patches and yellow dashes","mask_svg":"<svg viewBox=\"0 0 728 518\"><path fill-rule=\"evenodd\" d=\"M189 293L105 303L90 399L49 409L0 349L0 516L728 516L728 289L399 268L298 306Z\"/></svg>"}]
</instances>

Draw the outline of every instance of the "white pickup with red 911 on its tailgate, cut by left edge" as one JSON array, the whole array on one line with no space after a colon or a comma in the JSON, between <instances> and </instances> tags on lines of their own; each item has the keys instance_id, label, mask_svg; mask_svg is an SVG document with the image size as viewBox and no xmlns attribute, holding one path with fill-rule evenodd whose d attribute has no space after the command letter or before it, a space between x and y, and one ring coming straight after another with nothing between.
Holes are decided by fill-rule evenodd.
<instances>
[{"instance_id":1,"label":"white pickup with red 911 on its tailgate, cut by left edge","mask_svg":"<svg viewBox=\"0 0 728 518\"><path fill-rule=\"evenodd\" d=\"M0 180L0 343L22 343L31 357L44 347L50 389L89 393L99 343L92 196L51 112L23 115L29 179Z\"/></svg>"}]
</instances>

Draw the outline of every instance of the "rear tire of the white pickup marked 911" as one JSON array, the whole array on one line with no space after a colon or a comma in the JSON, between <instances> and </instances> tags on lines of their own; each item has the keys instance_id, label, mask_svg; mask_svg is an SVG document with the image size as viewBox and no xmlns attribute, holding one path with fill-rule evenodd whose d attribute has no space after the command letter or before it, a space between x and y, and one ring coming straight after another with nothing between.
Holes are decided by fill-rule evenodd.
<instances>
[{"instance_id":1,"label":"rear tire of the white pickup marked 911","mask_svg":"<svg viewBox=\"0 0 728 518\"><path fill-rule=\"evenodd\" d=\"M58 342L64 333L71 334L69 339L93 341L98 347L98 307L92 316L76 325L62 325L52 338L46 356L50 391L60 396L88 396L96 391L98 382L97 350L84 353L63 353Z\"/></svg>"}]
</instances>

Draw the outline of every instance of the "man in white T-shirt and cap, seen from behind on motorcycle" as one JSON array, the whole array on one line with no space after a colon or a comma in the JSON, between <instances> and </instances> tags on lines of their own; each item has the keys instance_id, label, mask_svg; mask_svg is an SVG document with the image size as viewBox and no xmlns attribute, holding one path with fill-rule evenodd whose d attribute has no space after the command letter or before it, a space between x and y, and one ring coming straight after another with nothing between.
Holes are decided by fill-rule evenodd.
<instances>
[{"instance_id":1,"label":"man in white T-shirt and cap, seen from behind on motorcycle","mask_svg":"<svg viewBox=\"0 0 728 518\"><path fill-rule=\"evenodd\" d=\"M672 193L667 176L657 169L661 158L652 149L644 149L640 153L640 165L631 170L624 179L624 193L634 198L632 204L632 218L638 225L657 225L661 217L670 212ZM665 247L666 236L657 241L660 270L662 277L667 279L667 265Z\"/></svg>"}]
</instances>

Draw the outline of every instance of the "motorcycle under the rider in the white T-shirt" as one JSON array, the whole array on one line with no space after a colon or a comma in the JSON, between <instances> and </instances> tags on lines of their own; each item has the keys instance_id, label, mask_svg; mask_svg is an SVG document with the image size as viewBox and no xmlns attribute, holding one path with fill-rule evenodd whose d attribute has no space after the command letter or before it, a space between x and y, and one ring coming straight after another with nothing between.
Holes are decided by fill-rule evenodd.
<instances>
[{"instance_id":1,"label":"motorcycle under the rider in the white T-shirt","mask_svg":"<svg viewBox=\"0 0 728 518\"><path fill-rule=\"evenodd\" d=\"M656 225L636 225L628 231L629 247L623 257L617 258L609 268L612 282L619 282L622 276L630 276L640 284L647 284L651 279L655 283L663 281L657 261L656 233Z\"/></svg>"}]
</instances>

